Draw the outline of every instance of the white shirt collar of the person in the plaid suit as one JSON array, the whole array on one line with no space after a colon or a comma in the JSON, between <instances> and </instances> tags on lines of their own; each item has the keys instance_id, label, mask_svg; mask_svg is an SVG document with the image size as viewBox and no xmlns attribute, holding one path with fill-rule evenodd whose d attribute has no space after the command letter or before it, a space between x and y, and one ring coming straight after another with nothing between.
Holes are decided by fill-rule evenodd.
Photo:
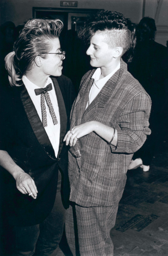
<instances>
[{"instance_id":1,"label":"white shirt collar of the person in the plaid suit","mask_svg":"<svg viewBox=\"0 0 168 256\"><path fill-rule=\"evenodd\" d=\"M102 79L99 79L100 75L101 75L101 69L97 68L91 77L92 79L94 79L95 85L97 86L97 88L101 89L106 84L106 82L110 79L110 77L112 77L114 75L114 73L118 69L120 69L120 65L121 65L121 63L119 62L118 66L110 74L108 74L107 76L105 76Z\"/></svg>"}]
</instances>

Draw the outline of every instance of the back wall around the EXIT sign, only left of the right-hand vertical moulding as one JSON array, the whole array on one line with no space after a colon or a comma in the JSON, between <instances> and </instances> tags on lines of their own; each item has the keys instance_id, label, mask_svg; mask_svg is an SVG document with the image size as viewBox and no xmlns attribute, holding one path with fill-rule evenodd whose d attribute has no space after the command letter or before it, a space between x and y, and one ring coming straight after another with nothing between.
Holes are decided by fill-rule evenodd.
<instances>
[{"instance_id":1,"label":"back wall around the EXIT sign, only left of the right-hand vertical moulding","mask_svg":"<svg viewBox=\"0 0 168 256\"><path fill-rule=\"evenodd\" d=\"M77 8L118 11L138 22L142 17L142 3L143 0L78 0ZM1 24L11 20L16 26L32 17L33 6L61 8L59 0L1 0L1 6Z\"/></svg>"}]
</instances>

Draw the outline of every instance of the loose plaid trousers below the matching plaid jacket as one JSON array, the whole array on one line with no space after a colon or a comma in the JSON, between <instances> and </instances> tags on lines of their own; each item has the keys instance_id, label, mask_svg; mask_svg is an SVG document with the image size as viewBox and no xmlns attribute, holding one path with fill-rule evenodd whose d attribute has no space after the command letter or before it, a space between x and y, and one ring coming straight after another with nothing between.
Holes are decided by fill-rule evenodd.
<instances>
[{"instance_id":1,"label":"loose plaid trousers below the matching plaid jacket","mask_svg":"<svg viewBox=\"0 0 168 256\"><path fill-rule=\"evenodd\" d=\"M66 213L66 236L73 256L113 256L110 230L118 204L81 207L72 203Z\"/></svg>"}]
</instances>

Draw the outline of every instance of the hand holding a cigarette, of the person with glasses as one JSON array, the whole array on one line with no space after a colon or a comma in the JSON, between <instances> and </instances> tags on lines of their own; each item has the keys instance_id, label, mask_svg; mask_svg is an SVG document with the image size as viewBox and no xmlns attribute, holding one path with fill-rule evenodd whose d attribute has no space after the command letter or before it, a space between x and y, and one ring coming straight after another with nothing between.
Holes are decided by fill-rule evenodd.
<instances>
[{"instance_id":1,"label":"hand holding a cigarette, of the person with glasses","mask_svg":"<svg viewBox=\"0 0 168 256\"><path fill-rule=\"evenodd\" d=\"M37 187L31 176L24 171L17 171L14 175L16 187L22 194L29 194L34 199L37 197Z\"/></svg>"}]
</instances>

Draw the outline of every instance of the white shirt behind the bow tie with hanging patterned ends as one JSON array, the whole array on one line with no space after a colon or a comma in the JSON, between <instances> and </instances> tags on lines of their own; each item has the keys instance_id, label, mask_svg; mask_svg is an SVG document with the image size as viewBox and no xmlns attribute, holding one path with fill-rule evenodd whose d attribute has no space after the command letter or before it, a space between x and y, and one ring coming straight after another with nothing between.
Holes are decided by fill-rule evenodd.
<instances>
[{"instance_id":1,"label":"white shirt behind the bow tie with hanging patterned ends","mask_svg":"<svg viewBox=\"0 0 168 256\"><path fill-rule=\"evenodd\" d=\"M25 75L23 75L22 77L22 81L33 101L33 104L35 105L35 108L37 110L37 113L40 117L40 120L42 122L42 113L41 113L41 94L37 95L35 94L35 89L39 89L40 87L38 87L37 85L33 84L29 79L27 79L27 77ZM44 87L46 87L48 84L52 84L52 90L48 91L49 95L50 95L50 99L51 99L51 103L53 105L54 108L54 112L58 121L58 124L54 125L53 124L53 119L52 116L50 114L49 111L49 107L46 104L45 101L45 107L46 107L46 115L47 115L47 127L44 127L49 140L53 146L54 152L55 152L55 156L57 157L58 155L58 150L59 150L59 139L60 139L60 116L59 116L59 108L58 108L58 102L57 102L57 97L56 97L56 93L55 93L55 89L54 89L54 85L53 82L51 80L51 78L49 77L46 81L46 84Z\"/></svg>"}]
</instances>

